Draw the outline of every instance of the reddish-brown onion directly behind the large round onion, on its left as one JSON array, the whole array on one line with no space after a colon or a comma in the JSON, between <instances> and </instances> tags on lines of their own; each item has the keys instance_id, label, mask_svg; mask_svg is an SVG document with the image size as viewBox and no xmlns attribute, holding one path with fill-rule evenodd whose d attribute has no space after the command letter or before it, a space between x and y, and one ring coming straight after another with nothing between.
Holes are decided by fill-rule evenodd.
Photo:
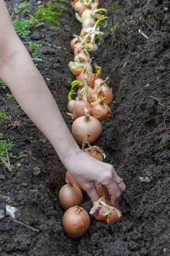
<instances>
[{"instance_id":1,"label":"reddish-brown onion directly behind the large round onion, on its left","mask_svg":"<svg viewBox=\"0 0 170 256\"><path fill-rule=\"evenodd\" d=\"M88 103L87 100L84 100L81 93L79 93L79 99L78 101L76 101L73 108L73 115L75 119L80 116L85 116L85 107L88 108L89 113L91 114L91 105Z\"/></svg>"}]
</instances>

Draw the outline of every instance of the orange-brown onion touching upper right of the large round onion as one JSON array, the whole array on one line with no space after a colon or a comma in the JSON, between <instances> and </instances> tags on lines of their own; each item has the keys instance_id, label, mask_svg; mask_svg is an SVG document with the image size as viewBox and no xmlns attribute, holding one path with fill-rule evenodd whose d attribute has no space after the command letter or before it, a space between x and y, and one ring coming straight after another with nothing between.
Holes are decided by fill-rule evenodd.
<instances>
[{"instance_id":1,"label":"orange-brown onion touching upper right of the large round onion","mask_svg":"<svg viewBox=\"0 0 170 256\"><path fill-rule=\"evenodd\" d=\"M102 98L91 103L91 116L96 117L99 121L104 121L111 117L111 109L105 104L105 99L106 98Z\"/></svg>"}]
</instances>

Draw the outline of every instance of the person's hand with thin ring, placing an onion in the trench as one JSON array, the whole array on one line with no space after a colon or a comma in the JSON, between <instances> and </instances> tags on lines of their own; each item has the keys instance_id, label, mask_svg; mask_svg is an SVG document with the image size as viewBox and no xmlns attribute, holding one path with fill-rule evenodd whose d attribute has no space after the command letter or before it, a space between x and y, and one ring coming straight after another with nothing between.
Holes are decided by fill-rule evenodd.
<instances>
[{"instance_id":1,"label":"person's hand with thin ring, placing an onion in the trench","mask_svg":"<svg viewBox=\"0 0 170 256\"><path fill-rule=\"evenodd\" d=\"M108 195L113 206L117 204L126 186L123 181L119 183L121 177L117 175L112 165L96 160L83 151L72 154L67 161L68 172L71 173L74 181L88 193L92 202L99 200L100 196L96 186L101 184L102 194Z\"/></svg>"}]
</instances>

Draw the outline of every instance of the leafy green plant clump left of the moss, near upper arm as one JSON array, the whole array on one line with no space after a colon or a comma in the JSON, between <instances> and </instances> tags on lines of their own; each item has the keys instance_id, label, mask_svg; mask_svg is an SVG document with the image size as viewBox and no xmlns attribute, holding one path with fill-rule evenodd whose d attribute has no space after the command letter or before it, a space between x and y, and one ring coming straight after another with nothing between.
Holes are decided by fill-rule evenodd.
<instances>
[{"instance_id":1,"label":"leafy green plant clump left of the moss, near upper arm","mask_svg":"<svg viewBox=\"0 0 170 256\"><path fill-rule=\"evenodd\" d=\"M39 26L39 23L35 18L31 18L30 20L16 19L13 21L13 25L17 34L28 41L31 30L34 28L34 26Z\"/></svg>"}]
</instances>

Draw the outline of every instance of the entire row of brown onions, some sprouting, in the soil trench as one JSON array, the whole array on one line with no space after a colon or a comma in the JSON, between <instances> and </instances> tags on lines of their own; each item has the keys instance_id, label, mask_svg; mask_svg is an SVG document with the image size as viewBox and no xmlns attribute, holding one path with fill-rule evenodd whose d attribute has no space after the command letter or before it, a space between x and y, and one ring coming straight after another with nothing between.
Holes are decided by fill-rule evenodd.
<instances>
[{"instance_id":1,"label":"entire row of brown onions, some sprouting, in the soil trench","mask_svg":"<svg viewBox=\"0 0 170 256\"><path fill-rule=\"evenodd\" d=\"M82 23L80 35L74 35L71 40L71 49L74 52L74 61L68 64L71 73L76 76L76 80L71 83L71 91L68 94L68 113L75 119L71 128L71 133L82 151L99 161L103 161L104 152L98 146L91 146L102 134L104 121L111 117L111 109L108 104L113 99L113 93L108 86L108 77L101 79L102 68L94 64L96 73L93 73L90 52L98 49L95 43L96 35L103 35L99 25L107 19L102 13L107 9L98 9L99 0L74 0L72 7L76 12L77 20ZM77 92L75 88L77 87ZM75 96L75 99L72 97ZM85 148L88 146L88 148ZM67 171L65 175L66 185L59 192L59 202L66 210L63 215L62 225L68 236L77 238L82 236L90 225L90 217L80 205L82 195L85 190L79 186ZM102 186L96 187L99 193L99 201L94 203L90 211L91 215L99 221L110 223L113 220L120 221L122 209L115 208L111 201L102 195Z\"/></svg>"}]
</instances>

